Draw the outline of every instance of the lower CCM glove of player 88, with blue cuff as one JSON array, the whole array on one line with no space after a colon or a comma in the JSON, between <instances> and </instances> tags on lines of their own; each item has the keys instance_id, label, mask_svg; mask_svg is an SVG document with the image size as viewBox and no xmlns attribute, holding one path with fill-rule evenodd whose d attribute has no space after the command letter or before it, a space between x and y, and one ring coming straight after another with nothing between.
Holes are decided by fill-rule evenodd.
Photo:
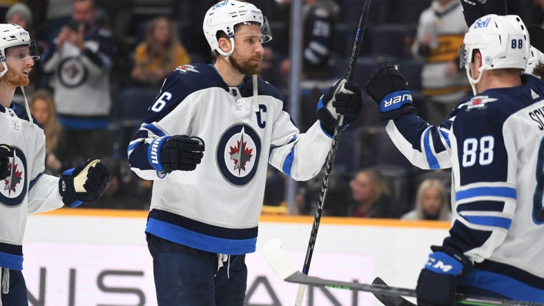
<instances>
[{"instance_id":1,"label":"lower CCM glove of player 88, with blue cuff","mask_svg":"<svg viewBox=\"0 0 544 306\"><path fill-rule=\"evenodd\" d=\"M418 306L455 306L457 276L468 274L474 265L453 247L432 246L431 250L418 278Z\"/></svg>"}]
</instances>

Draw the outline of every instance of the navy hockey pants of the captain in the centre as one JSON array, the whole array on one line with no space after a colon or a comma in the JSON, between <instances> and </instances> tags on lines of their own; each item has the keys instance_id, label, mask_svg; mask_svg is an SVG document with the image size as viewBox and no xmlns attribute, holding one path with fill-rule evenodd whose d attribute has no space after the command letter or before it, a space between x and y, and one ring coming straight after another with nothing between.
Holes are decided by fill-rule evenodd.
<instances>
[{"instance_id":1,"label":"navy hockey pants of the captain in the centre","mask_svg":"<svg viewBox=\"0 0 544 306\"><path fill-rule=\"evenodd\" d=\"M147 234L159 306L243 306L245 255L233 255L217 271L217 254Z\"/></svg>"}]
</instances>

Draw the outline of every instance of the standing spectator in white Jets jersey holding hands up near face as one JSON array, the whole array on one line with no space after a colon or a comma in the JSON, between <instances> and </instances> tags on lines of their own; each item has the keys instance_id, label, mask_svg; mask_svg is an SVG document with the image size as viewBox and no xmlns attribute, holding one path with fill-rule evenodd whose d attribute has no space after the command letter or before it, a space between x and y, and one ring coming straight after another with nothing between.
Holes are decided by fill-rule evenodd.
<instances>
[{"instance_id":1,"label":"standing spectator in white Jets jersey holding hands up near face","mask_svg":"<svg viewBox=\"0 0 544 306\"><path fill-rule=\"evenodd\" d=\"M110 32L94 23L93 0L75 0L72 8L72 21L43 54L43 69L55 73L54 101L69 145L66 154L88 159L107 155L112 147L106 128L114 45Z\"/></svg>"}]
</instances>

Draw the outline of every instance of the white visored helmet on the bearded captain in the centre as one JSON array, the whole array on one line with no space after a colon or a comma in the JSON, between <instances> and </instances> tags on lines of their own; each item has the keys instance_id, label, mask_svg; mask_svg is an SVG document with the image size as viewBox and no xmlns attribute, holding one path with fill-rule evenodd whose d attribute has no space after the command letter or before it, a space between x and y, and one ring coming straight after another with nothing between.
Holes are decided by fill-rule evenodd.
<instances>
[{"instance_id":1,"label":"white visored helmet on the bearded captain in the centre","mask_svg":"<svg viewBox=\"0 0 544 306\"><path fill-rule=\"evenodd\" d=\"M215 50L225 57L229 57L234 51L234 26L239 23L259 23L261 28L261 43L270 41L272 35L266 17L256 6L247 2L224 0L215 3L204 17L204 36L208 40L211 50ZM224 52L217 44L217 32L223 31L231 39L231 51Z\"/></svg>"}]
</instances>

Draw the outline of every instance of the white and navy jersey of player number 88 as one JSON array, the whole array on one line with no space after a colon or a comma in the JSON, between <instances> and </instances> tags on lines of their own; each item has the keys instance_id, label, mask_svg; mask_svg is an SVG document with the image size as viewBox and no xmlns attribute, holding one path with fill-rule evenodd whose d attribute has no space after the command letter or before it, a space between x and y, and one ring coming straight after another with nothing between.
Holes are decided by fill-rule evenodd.
<instances>
[{"instance_id":1,"label":"white and navy jersey of player number 88","mask_svg":"<svg viewBox=\"0 0 544 306\"><path fill-rule=\"evenodd\" d=\"M454 220L444 245L475 262L459 284L544 302L544 83L463 99L439 127L415 114L387 123L422 169L451 167Z\"/></svg>"}]
</instances>

